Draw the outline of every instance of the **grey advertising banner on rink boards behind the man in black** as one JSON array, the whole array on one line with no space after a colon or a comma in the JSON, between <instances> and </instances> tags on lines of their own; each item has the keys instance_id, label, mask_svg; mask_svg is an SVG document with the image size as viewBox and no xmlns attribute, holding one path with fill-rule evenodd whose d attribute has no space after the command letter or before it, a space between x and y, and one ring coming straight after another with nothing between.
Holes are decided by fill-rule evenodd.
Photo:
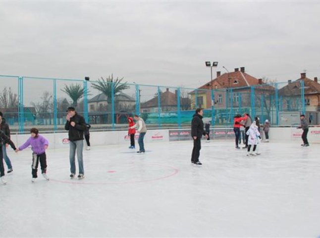
<instances>
[{"instance_id":1,"label":"grey advertising banner on rink boards behind the man in black","mask_svg":"<svg viewBox=\"0 0 320 238\"><path fill-rule=\"evenodd\" d=\"M191 140L191 129L169 130L169 141ZM203 137L205 139L205 137ZM233 128L213 128L210 139L234 139Z\"/></svg>"}]
</instances>

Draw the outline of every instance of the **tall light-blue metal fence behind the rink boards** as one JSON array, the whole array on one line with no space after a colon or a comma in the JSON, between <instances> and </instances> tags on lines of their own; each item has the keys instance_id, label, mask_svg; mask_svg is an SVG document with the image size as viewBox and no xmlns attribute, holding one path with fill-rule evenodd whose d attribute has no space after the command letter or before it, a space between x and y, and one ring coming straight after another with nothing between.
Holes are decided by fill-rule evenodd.
<instances>
[{"instance_id":1,"label":"tall light-blue metal fence behind the rink boards","mask_svg":"<svg viewBox=\"0 0 320 238\"><path fill-rule=\"evenodd\" d=\"M0 111L12 131L64 130L65 111L76 108L96 129L127 128L127 118L140 115L149 127L189 126L194 111L204 120L231 126L235 114L249 113L281 124L280 112L305 112L304 82L251 87L197 89L79 79L0 76Z\"/></svg>"}]
</instances>

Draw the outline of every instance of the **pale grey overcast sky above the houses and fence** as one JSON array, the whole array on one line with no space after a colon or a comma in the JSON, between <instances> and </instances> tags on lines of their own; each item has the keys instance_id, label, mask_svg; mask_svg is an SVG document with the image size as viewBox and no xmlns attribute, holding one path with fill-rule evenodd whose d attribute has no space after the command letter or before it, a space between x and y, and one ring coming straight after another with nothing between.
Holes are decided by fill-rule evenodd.
<instances>
[{"instance_id":1,"label":"pale grey overcast sky above the houses and fence","mask_svg":"<svg viewBox=\"0 0 320 238\"><path fill-rule=\"evenodd\" d=\"M319 29L320 1L1 1L0 74L199 87L214 60L313 79Z\"/></svg>"}]
</instances>

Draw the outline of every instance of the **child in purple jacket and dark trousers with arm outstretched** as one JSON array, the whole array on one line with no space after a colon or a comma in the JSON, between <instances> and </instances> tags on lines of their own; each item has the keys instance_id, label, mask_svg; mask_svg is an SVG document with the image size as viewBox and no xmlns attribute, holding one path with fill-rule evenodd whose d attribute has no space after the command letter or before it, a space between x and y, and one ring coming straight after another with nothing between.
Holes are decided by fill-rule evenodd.
<instances>
[{"instance_id":1,"label":"child in purple jacket and dark trousers with arm outstretched","mask_svg":"<svg viewBox=\"0 0 320 238\"><path fill-rule=\"evenodd\" d=\"M39 130L37 128L31 128L30 130L31 137L18 149L15 150L15 152L24 150L29 145L31 145L32 150L32 179L31 181L34 182L38 178L38 165L40 161L40 167L41 167L41 174L42 176L49 180L47 176L47 156L46 156L46 149L48 148L49 142L48 140L39 134Z\"/></svg>"}]
</instances>

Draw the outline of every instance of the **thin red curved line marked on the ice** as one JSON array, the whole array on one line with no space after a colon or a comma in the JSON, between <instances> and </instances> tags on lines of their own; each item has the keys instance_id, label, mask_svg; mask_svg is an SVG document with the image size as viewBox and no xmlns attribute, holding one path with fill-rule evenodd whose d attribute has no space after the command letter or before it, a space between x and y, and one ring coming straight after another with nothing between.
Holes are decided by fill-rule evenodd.
<instances>
[{"instance_id":1,"label":"thin red curved line marked on the ice","mask_svg":"<svg viewBox=\"0 0 320 238\"><path fill-rule=\"evenodd\" d=\"M172 167L172 166L166 166L166 165L158 165L158 164L149 164L151 166L160 166L160 167L165 167L173 170L173 172L169 175L159 177L159 178L154 178L154 179L146 179L146 180L137 180L137 181L119 181L119 182L82 182L83 180L81 179L80 181L66 181L66 180L57 180L57 179L50 179L50 181L55 181L55 182L61 182L61 183L69 183L69 184L84 184L84 185L108 185L108 184L126 184L126 183L138 183L138 182L151 182L151 181L157 181L161 179L167 179L172 176L175 176L179 170ZM113 172L112 172L113 173Z\"/></svg>"}]
</instances>

